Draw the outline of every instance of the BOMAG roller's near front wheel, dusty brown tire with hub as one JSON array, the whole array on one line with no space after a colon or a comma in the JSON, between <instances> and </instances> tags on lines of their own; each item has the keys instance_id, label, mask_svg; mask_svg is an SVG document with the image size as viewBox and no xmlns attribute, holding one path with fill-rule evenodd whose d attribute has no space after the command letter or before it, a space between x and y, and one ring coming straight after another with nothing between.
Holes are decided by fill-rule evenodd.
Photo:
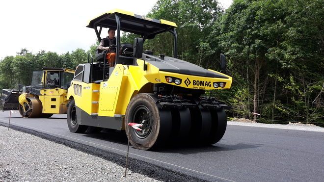
<instances>
[{"instance_id":1,"label":"BOMAG roller's near front wheel, dusty brown tire with hub","mask_svg":"<svg viewBox=\"0 0 324 182\"><path fill-rule=\"evenodd\" d=\"M153 94L141 93L135 95L126 109L125 130L130 143L136 149L149 150L153 146L165 144L172 129L170 110L160 110ZM142 129L149 131L139 132L128 126L128 123L141 123Z\"/></svg>"}]
</instances>

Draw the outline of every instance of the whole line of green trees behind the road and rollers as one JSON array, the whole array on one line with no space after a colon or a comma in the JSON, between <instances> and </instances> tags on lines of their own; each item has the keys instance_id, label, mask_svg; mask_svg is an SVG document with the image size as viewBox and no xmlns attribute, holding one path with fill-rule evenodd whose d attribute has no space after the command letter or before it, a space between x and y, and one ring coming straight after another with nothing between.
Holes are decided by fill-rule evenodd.
<instances>
[{"instance_id":1,"label":"whole line of green trees behind the road and rollers","mask_svg":"<svg viewBox=\"0 0 324 182\"><path fill-rule=\"evenodd\" d=\"M226 55L232 88L212 95L233 106L230 117L323 125L323 0L234 0L226 10L217 0L158 0L146 16L177 24L180 59L219 70L219 54ZM73 69L95 47L62 55L23 49L1 60L0 88L30 84L44 66ZM144 47L171 56L173 37L162 33Z\"/></svg>"}]
</instances>

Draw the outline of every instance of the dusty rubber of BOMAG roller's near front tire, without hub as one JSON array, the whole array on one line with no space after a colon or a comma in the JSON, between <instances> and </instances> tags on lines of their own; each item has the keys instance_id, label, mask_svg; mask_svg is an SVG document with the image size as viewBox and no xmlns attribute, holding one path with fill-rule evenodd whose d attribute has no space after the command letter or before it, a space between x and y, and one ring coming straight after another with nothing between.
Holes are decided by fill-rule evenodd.
<instances>
[{"instance_id":1,"label":"dusty rubber of BOMAG roller's near front tire, without hub","mask_svg":"<svg viewBox=\"0 0 324 182\"><path fill-rule=\"evenodd\" d=\"M145 106L152 117L152 128L145 138L139 138L135 134L135 130L129 127L128 123L134 123L132 118L136 108ZM160 110L156 105L156 96L149 93L140 93L135 95L126 109L125 130L127 137L132 146L140 150L149 150L152 147L161 146L167 143L172 130L172 116L170 110Z\"/></svg>"}]
</instances>

